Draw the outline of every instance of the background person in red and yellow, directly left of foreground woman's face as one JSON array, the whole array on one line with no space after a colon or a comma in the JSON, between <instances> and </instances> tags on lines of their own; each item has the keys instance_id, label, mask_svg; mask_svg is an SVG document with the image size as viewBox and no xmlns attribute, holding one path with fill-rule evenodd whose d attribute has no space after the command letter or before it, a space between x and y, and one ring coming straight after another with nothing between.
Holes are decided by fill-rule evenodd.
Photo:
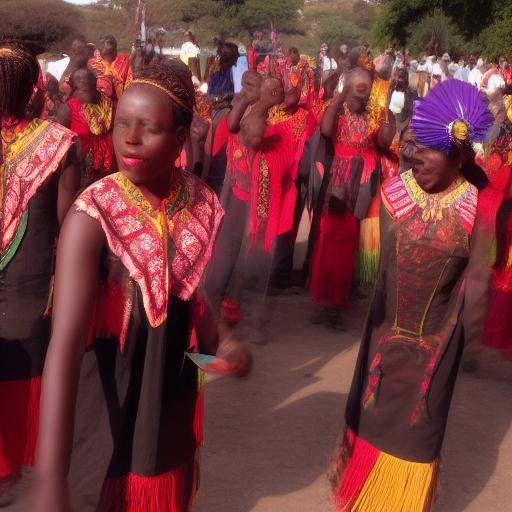
<instances>
[{"instance_id":1,"label":"background person in red and yellow, directly left of foreground woman's face","mask_svg":"<svg viewBox=\"0 0 512 512\"><path fill-rule=\"evenodd\" d=\"M85 187L110 174L114 167L112 101L97 91L96 77L87 68L75 71L70 85L73 92L60 106L57 120L78 135Z\"/></svg>"}]
</instances>

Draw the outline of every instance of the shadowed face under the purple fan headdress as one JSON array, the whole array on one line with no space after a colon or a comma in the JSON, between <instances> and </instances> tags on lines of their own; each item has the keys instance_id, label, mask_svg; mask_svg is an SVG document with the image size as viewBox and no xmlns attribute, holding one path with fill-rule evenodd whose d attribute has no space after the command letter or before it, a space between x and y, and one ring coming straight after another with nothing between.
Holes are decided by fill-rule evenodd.
<instances>
[{"instance_id":1,"label":"shadowed face under the purple fan headdress","mask_svg":"<svg viewBox=\"0 0 512 512\"><path fill-rule=\"evenodd\" d=\"M443 192L457 176L457 168L441 151L416 147L411 161L416 182L429 194Z\"/></svg>"}]
</instances>

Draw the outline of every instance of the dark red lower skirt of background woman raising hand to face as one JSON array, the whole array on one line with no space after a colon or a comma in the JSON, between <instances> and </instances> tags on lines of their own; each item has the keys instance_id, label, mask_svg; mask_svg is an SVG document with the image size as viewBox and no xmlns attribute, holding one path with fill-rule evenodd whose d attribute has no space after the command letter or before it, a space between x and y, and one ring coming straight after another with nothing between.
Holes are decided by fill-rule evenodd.
<instances>
[{"instance_id":1,"label":"dark red lower skirt of background woman raising hand to face","mask_svg":"<svg viewBox=\"0 0 512 512\"><path fill-rule=\"evenodd\" d=\"M313 250L309 292L323 306L346 306L354 279L359 221L352 212L325 213Z\"/></svg>"}]
</instances>

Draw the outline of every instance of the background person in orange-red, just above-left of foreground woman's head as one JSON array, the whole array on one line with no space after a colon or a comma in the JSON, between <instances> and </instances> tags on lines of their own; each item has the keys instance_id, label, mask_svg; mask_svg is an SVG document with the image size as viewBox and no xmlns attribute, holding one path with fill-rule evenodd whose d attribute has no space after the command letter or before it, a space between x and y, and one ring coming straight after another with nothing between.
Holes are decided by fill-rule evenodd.
<instances>
[{"instance_id":1,"label":"background person in orange-red, just above-left of foreground woman's head","mask_svg":"<svg viewBox=\"0 0 512 512\"><path fill-rule=\"evenodd\" d=\"M132 70L130 57L125 53L118 53L117 40L112 35L103 37L94 57L87 63L98 78L98 85L110 82L112 84L112 99L118 100L131 81ZM102 91L103 92L103 91ZM107 96L109 96L107 94Z\"/></svg>"}]
</instances>

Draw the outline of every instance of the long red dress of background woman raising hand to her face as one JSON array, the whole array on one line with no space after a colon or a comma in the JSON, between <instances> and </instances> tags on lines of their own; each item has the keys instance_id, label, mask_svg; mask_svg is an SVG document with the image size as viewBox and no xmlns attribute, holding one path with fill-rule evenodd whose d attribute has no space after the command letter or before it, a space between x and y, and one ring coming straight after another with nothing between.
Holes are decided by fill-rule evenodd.
<instances>
[{"instance_id":1,"label":"long red dress of background woman raising hand to her face","mask_svg":"<svg viewBox=\"0 0 512 512\"><path fill-rule=\"evenodd\" d=\"M348 302L359 221L367 216L378 185L374 125L369 114L352 114L346 105L338 121L311 266L310 294L323 306L345 306Z\"/></svg>"}]
</instances>

